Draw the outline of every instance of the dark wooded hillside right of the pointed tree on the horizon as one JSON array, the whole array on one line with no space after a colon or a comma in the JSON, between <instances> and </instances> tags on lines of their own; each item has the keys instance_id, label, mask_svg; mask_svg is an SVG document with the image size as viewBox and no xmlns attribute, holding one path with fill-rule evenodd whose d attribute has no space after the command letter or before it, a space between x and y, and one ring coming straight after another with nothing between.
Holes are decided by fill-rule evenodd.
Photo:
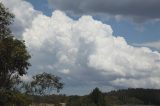
<instances>
[{"instance_id":1,"label":"dark wooded hillside right of the pointed tree on the horizon","mask_svg":"<svg viewBox=\"0 0 160 106\"><path fill-rule=\"evenodd\" d=\"M129 88L111 91L105 95L112 98L116 104L160 105L159 89Z\"/></svg>"}]
</instances>

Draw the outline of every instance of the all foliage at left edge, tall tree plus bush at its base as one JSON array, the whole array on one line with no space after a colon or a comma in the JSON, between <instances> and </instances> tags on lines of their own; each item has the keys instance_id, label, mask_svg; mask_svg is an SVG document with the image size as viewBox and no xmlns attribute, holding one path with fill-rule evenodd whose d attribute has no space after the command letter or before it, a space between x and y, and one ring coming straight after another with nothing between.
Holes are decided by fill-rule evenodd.
<instances>
[{"instance_id":1,"label":"all foliage at left edge, tall tree plus bush at its base","mask_svg":"<svg viewBox=\"0 0 160 106\"><path fill-rule=\"evenodd\" d=\"M14 87L19 84L20 76L27 73L30 66L24 41L16 39L10 30L14 15L0 3L0 105L28 106L31 98Z\"/></svg>"}]
</instances>

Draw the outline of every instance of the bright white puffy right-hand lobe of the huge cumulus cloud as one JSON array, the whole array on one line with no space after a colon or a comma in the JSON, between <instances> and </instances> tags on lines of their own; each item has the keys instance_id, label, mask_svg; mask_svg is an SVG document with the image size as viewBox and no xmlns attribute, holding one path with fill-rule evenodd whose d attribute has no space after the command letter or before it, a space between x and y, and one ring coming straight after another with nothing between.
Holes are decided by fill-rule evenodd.
<instances>
[{"instance_id":1,"label":"bright white puffy right-hand lobe of the huge cumulus cloud","mask_svg":"<svg viewBox=\"0 0 160 106\"><path fill-rule=\"evenodd\" d=\"M134 77L159 69L159 53L130 46L121 37L102 38L97 46L89 65L103 72Z\"/></svg>"}]
</instances>

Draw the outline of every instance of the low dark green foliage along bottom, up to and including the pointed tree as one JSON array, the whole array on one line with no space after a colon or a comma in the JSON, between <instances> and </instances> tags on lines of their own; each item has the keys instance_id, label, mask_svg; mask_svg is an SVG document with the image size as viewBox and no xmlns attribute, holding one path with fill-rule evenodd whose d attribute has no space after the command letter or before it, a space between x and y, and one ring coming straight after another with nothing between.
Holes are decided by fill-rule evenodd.
<instances>
[{"instance_id":1,"label":"low dark green foliage along bottom, up to and including the pointed tree","mask_svg":"<svg viewBox=\"0 0 160 106\"><path fill-rule=\"evenodd\" d=\"M48 95L34 96L35 103L52 103L59 104L65 102L67 106L112 106L108 103L105 94L98 88L95 88L89 95L85 96L66 96L66 95ZM45 100L45 101L44 101Z\"/></svg>"}]
</instances>

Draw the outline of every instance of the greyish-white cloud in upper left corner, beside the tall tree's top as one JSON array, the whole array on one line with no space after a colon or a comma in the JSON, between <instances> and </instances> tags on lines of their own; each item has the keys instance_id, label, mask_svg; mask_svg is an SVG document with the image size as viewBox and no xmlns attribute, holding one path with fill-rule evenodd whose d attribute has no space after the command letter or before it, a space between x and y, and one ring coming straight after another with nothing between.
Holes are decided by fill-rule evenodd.
<instances>
[{"instance_id":1,"label":"greyish-white cloud in upper left corner, beside the tall tree's top","mask_svg":"<svg viewBox=\"0 0 160 106\"><path fill-rule=\"evenodd\" d=\"M38 14L42 14L40 11L36 11L30 3L23 0L0 1L15 15L14 24L11 27L17 37L21 37L25 29L30 27L33 19Z\"/></svg>"}]
</instances>

